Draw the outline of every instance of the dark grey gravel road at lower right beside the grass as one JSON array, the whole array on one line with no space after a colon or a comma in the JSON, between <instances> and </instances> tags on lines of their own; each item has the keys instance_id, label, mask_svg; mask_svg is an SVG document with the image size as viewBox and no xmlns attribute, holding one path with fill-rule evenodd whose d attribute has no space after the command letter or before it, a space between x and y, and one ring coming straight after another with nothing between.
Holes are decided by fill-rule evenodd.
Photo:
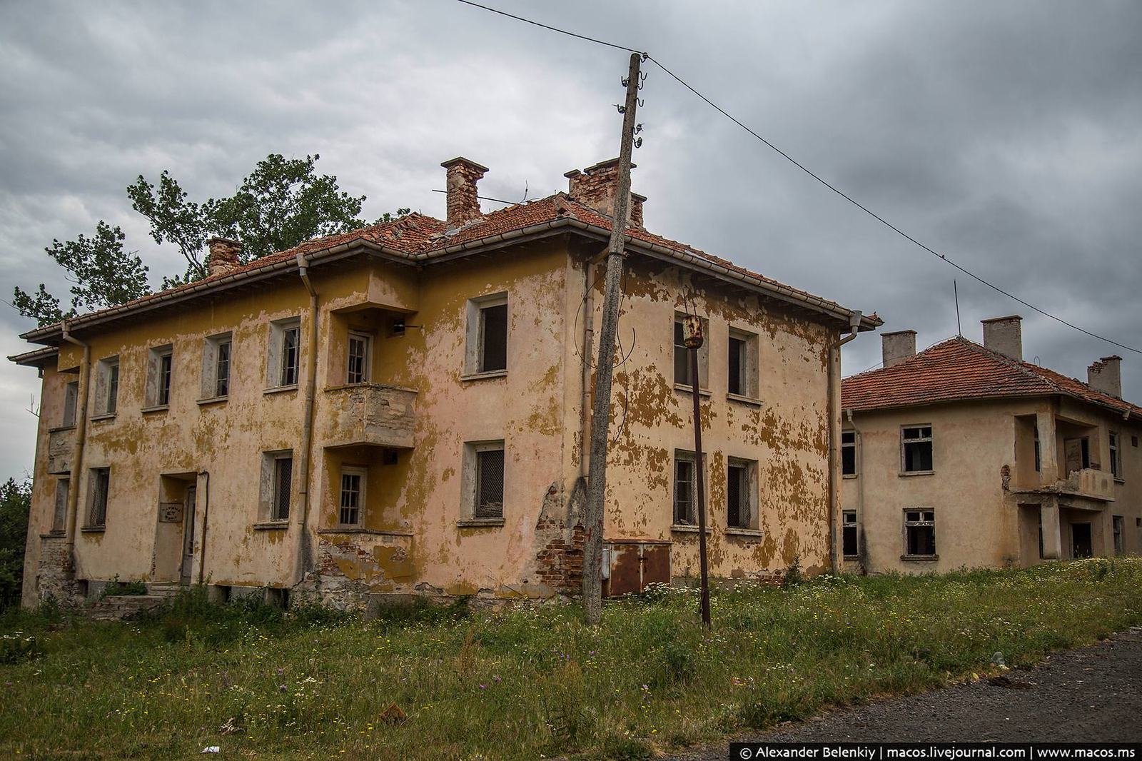
<instances>
[{"instance_id":1,"label":"dark grey gravel road at lower right beside the grass","mask_svg":"<svg viewBox=\"0 0 1142 761\"><path fill-rule=\"evenodd\" d=\"M1142 627L1052 656L1006 681L823 713L743 742L1140 742ZM725 759L725 745L674 756Z\"/></svg>"}]
</instances>

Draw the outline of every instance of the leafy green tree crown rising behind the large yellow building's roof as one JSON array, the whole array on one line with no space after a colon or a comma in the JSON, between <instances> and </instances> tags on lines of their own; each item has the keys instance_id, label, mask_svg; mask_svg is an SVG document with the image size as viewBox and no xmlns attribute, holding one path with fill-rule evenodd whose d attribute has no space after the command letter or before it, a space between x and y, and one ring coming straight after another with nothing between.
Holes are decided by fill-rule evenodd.
<instances>
[{"instance_id":1,"label":"leafy green tree crown rising behind the large yellow building's roof","mask_svg":"<svg viewBox=\"0 0 1142 761\"><path fill-rule=\"evenodd\" d=\"M186 261L180 275L163 277L163 289L206 277L206 242L215 235L239 240L246 263L311 238L368 224L359 218L365 197L341 191L333 175L319 175L320 158L313 154L287 159L272 153L257 163L232 195L201 202L191 200L169 171L160 174L158 183L139 175L127 189L131 207L146 217L155 243L177 247ZM397 215L408 211L400 209ZM392 218L385 214L377 222ZM124 253L122 243L122 231L102 221L91 238L54 241L46 249L48 255L67 270L75 283L71 307L64 311L42 283L32 293L17 287L13 305L42 326L148 294L147 267L135 253Z\"/></svg>"}]
</instances>

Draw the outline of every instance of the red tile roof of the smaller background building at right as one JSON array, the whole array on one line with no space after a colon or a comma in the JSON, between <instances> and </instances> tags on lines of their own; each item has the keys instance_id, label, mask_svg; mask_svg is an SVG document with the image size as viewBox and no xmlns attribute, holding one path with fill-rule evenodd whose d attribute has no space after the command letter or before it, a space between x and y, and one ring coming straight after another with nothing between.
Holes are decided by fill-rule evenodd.
<instances>
[{"instance_id":1,"label":"red tile roof of the smaller background building at right","mask_svg":"<svg viewBox=\"0 0 1142 761\"><path fill-rule=\"evenodd\" d=\"M867 410L1057 394L1142 417L1142 407L962 337L949 338L892 367L845 378L841 384L841 406Z\"/></svg>"}]
</instances>

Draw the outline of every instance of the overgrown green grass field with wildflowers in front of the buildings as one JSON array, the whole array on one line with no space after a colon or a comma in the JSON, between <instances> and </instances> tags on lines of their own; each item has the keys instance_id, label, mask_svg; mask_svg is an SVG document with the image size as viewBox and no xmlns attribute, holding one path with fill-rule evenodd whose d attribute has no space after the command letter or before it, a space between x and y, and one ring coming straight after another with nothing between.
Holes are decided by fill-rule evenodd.
<instances>
[{"instance_id":1,"label":"overgrown green grass field with wildflowers in front of the buildings","mask_svg":"<svg viewBox=\"0 0 1142 761\"><path fill-rule=\"evenodd\" d=\"M200 594L132 623L9 612L0 755L648 758L1142 623L1142 561L743 586L714 595L709 633L695 608L662 588L597 628L576 606L362 623Z\"/></svg>"}]
</instances>

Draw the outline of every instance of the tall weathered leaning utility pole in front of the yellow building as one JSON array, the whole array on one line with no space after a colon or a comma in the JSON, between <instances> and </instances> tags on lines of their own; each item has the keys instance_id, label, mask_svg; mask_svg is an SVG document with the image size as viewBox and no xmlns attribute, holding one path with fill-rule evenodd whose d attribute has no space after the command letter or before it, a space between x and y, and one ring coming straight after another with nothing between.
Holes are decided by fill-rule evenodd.
<instances>
[{"instance_id":1,"label":"tall weathered leaning utility pole in front of the yellow building","mask_svg":"<svg viewBox=\"0 0 1142 761\"><path fill-rule=\"evenodd\" d=\"M598 333L595 366L595 402L590 424L590 467L587 471L587 504L582 546L582 612L588 624L597 624L603 612L603 502L606 496L606 444L610 439L611 376L614 371L614 337L619 329L619 291L626 250L627 211L630 207L630 152L638 106L638 70L642 56L630 54L627 101L622 111L622 143L619 150L619 186L614 197L611 242L606 253L606 287L603 291L603 325ZM587 266L590 266L588 262ZM588 314L587 320L594 319Z\"/></svg>"}]
</instances>

